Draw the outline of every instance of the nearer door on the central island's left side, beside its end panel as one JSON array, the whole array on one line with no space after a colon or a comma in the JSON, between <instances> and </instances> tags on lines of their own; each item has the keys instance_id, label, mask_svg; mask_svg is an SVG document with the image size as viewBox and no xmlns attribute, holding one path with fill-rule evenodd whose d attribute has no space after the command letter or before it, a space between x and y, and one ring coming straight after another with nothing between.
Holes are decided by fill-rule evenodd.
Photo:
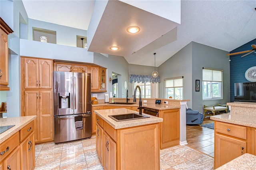
<instances>
[{"instance_id":1,"label":"nearer door on the central island's left side, beside its end panel","mask_svg":"<svg viewBox=\"0 0 256 170\"><path fill-rule=\"evenodd\" d=\"M103 167L105 170L116 170L116 143L106 132L103 132Z\"/></svg>"}]
</instances>

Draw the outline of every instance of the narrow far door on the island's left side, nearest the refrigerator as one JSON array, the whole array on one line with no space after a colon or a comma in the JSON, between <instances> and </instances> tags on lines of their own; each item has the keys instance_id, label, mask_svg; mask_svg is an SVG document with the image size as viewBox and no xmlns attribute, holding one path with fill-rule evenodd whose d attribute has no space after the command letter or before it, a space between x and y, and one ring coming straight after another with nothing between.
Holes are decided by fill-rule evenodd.
<instances>
[{"instance_id":1,"label":"narrow far door on the island's left side, nearest the refrigerator","mask_svg":"<svg viewBox=\"0 0 256 170\"><path fill-rule=\"evenodd\" d=\"M96 123L96 152L100 158L100 162L103 164L103 129Z\"/></svg>"}]
</instances>

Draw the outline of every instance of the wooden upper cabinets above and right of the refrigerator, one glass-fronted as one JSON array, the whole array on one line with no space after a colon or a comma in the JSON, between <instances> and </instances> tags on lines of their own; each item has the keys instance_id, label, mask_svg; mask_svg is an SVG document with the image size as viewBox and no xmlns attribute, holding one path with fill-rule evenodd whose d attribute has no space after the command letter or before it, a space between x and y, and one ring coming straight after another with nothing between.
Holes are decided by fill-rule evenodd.
<instances>
[{"instance_id":1,"label":"wooden upper cabinets above and right of the refrigerator, one glass-fronted","mask_svg":"<svg viewBox=\"0 0 256 170\"><path fill-rule=\"evenodd\" d=\"M54 71L70 71L71 67L81 67L85 73L91 73L92 92L106 92L106 68L97 65L54 63Z\"/></svg>"}]
</instances>

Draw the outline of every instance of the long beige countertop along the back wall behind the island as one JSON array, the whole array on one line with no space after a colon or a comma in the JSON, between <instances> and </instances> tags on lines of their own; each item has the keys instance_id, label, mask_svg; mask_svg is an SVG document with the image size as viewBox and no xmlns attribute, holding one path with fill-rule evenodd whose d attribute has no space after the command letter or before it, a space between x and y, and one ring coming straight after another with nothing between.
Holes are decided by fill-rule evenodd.
<instances>
[{"instance_id":1,"label":"long beige countertop along the back wall behind the island","mask_svg":"<svg viewBox=\"0 0 256 170\"><path fill-rule=\"evenodd\" d=\"M93 104L92 106L126 106L126 107L139 107L138 103L134 103L132 105L126 105L126 104L111 104L111 103L98 103L98 104ZM168 110L168 109L180 109L180 105L179 106L170 106L170 105L166 105L166 104L152 104L152 103L148 103L148 104L142 104L142 107L148 107L151 109L158 109L158 110Z\"/></svg>"}]
</instances>

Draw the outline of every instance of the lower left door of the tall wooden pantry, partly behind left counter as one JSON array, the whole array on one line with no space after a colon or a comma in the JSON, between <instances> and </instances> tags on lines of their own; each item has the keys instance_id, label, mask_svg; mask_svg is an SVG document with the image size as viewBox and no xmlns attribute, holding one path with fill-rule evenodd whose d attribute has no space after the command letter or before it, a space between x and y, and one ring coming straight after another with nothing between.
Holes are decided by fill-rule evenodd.
<instances>
[{"instance_id":1,"label":"lower left door of the tall wooden pantry, partly behind left counter","mask_svg":"<svg viewBox=\"0 0 256 170\"><path fill-rule=\"evenodd\" d=\"M39 141L39 91L24 91L25 98L25 116L33 116L36 115L36 119L34 120L35 125L35 141ZM49 126L49 125L47 125Z\"/></svg>"}]
</instances>

